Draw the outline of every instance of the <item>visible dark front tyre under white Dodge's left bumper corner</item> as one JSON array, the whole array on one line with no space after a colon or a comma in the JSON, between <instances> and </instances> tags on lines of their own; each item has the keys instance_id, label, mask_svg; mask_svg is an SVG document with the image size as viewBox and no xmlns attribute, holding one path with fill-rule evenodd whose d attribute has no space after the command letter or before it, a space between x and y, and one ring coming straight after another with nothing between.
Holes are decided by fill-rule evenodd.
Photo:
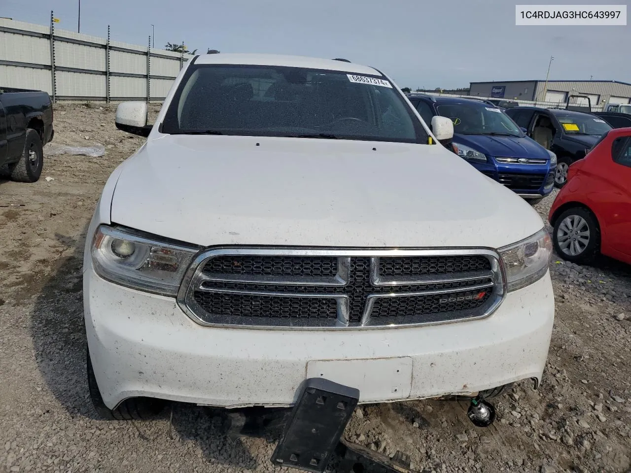
<instances>
[{"instance_id":1,"label":"visible dark front tyre under white Dodge's left bumper corner","mask_svg":"<svg viewBox=\"0 0 631 473\"><path fill-rule=\"evenodd\" d=\"M92 405L97 414L106 421L148 420L160 414L165 405L162 399L132 397L121 402L115 409L109 409L109 407L105 406L101 392L98 390L97 378L94 375L88 349L86 349L86 370L88 372L88 389L90 390Z\"/></svg>"}]
</instances>

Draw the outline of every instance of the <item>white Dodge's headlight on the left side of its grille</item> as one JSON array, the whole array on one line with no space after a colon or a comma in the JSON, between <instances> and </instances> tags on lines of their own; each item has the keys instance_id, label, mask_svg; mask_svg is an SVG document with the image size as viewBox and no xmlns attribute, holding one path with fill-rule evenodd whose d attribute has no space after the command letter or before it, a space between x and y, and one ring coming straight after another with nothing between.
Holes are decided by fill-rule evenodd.
<instances>
[{"instance_id":1,"label":"white Dodge's headlight on the left side of its grille","mask_svg":"<svg viewBox=\"0 0 631 473\"><path fill-rule=\"evenodd\" d=\"M157 242L102 225L92 240L91 254L94 269L103 279L141 291L175 296L198 249Z\"/></svg>"}]
</instances>

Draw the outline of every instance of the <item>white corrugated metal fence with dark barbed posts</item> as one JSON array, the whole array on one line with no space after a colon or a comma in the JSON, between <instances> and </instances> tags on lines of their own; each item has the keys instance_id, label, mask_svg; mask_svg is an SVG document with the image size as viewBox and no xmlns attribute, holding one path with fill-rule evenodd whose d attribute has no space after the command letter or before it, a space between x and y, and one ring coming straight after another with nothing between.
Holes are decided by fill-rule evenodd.
<instances>
[{"instance_id":1,"label":"white corrugated metal fence with dark barbed posts","mask_svg":"<svg viewBox=\"0 0 631 473\"><path fill-rule=\"evenodd\" d=\"M164 100L190 54L0 18L0 87L56 100Z\"/></svg>"}]
</instances>

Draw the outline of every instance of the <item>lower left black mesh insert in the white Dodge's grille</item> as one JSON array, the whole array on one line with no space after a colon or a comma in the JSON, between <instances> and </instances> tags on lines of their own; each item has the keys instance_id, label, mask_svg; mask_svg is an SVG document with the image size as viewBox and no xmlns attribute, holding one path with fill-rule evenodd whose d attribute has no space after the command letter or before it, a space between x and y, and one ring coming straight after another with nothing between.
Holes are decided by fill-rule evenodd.
<instances>
[{"instance_id":1,"label":"lower left black mesh insert in the white Dodge's grille","mask_svg":"<svg viewBox=\"0 0 631 473\"><path fill-rule=\"evenodd\" d=\"M195 301L206 312L204 320L213 318L333 318L338 317L334 299L259 296L250 294L196 291Z\"/></svg>"}]
</instances>

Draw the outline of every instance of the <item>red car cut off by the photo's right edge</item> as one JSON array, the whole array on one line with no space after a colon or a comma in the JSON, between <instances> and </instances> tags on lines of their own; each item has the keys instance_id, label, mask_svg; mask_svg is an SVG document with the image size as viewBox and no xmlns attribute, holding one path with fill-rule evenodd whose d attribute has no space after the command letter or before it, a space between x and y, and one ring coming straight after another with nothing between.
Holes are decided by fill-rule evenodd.
<instances>
[{"instance_id":1,"label":"red car cut off by the photo's right edge","mask_svg":"<svg viewBox=\"0 0 631 473\"><path fill-rule=\"evenodd\" d=\"M601 253L631 264L631 128L608 131L570 166L548 219L563 259Z\"/></svg>"}]
</instances>

